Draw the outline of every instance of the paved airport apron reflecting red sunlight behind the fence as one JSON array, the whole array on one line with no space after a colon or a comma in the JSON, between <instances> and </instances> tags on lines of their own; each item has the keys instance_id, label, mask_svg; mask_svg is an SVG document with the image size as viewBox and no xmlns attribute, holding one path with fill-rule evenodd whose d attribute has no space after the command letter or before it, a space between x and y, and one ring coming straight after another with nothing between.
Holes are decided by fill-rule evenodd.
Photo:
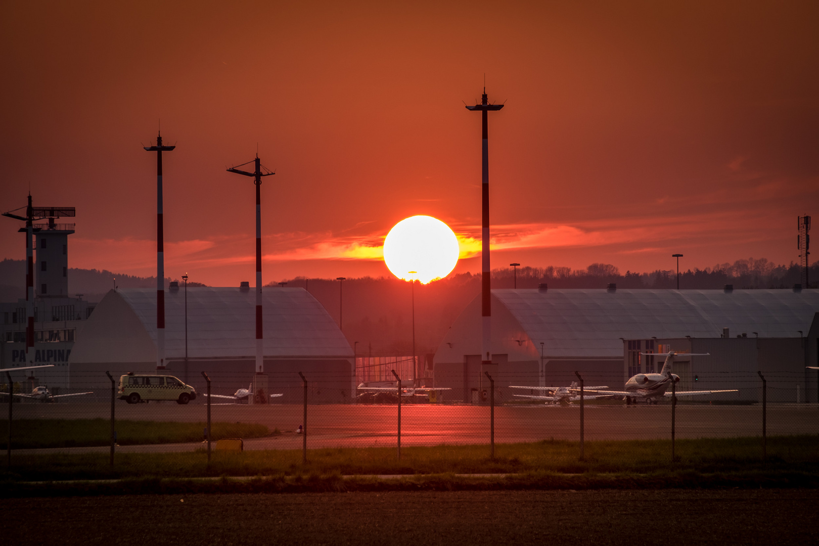
<instances>
[{"instance_id":1,"label":"paved airport apron reflecting red sunlight behind the fence","mask_svg":"<svg viewBox=\"0 0 819 546\"><path fill-rule=\"evenodd\" d=\"M482 444L489 442L486 406L407 404L401 408L401 444ZM260 423L283 435L248 440L245 449L299 449L301 405L214 405L214 422ZM5 407L0 418L7 417ZM100 403L15 404L15 418L106 418L110 406ZM205 419L201 404L117 403L118 419L197 422ZM396 443L395 405L328 404L308 407L308 445L318 447L388 446ZM586 440L654 440L671 435L671 406L627 407L587 404ZM768 435L819 433L817 404L770 404ZM762 434L760 406L686 405L676 408L677 438L720 438ZM495 441L578 440L580 408L577 406L500 406L495 408ZM185 451L201 444L123 446L121 452ZM77 448L79 449L79 448ZM100 448L105 449L105 448Z\"/></svg>"}]
</instances>

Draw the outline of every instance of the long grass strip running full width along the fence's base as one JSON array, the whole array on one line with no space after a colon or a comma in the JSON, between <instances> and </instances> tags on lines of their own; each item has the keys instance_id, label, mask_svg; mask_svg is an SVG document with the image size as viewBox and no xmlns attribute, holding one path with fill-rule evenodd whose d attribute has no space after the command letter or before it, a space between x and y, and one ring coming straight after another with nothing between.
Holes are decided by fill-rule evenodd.
<instances>
[{"instance_id":1,"label":"long grass strip running full width along the fence's base","mask_svg":"<svg viewBox=\"0 0 819 546\"><path fill-rule=\"evenodd\" d=\"M12 456L9 481L104 480L208 476L351 476L441 474L633 474L652 472L819 472L819 435L768 438L762 462L759 438L677 440L671 460L669 440L586 442L567 440L497 444L495 458L487 445L405 447L396 460L393 448L311 449L301 463L301 450L281 449L214 452L210 466L205 449L186 453L117 453L114 467L108 453L49 453ZM0 475L0 480L4 479Z\"/></svg>"}]
</instances>

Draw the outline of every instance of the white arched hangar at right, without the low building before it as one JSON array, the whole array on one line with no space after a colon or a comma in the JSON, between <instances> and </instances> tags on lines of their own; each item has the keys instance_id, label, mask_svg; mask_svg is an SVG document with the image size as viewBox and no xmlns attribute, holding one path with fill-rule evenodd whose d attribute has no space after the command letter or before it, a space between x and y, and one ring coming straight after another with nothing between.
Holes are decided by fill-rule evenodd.
<instances>
[{"instance_id":1,"label":"white arched hangar at right, without the low building before it","mask_svg":"<svg viewBox=\"0 0 819 546\"><path fill-rule=\"evenodd\" d=\"M792 367L803 372L806 363L817 365L819 290L541 286L493 290L491 312L491 366L482 369L481 364L480 296L455 319L438 347L435 383L453 389L450 399L472 401L474 392L488 386L484 372L495 379L501 399L511 394L505 386L565 386L577 380L575 371L586 385L619 389L629 377L627 341L720 338L724 328L739 336L803 337L804 362ZM816 393L816 376L802 377L803 392Z\"/></svg>"}]
</instances>

